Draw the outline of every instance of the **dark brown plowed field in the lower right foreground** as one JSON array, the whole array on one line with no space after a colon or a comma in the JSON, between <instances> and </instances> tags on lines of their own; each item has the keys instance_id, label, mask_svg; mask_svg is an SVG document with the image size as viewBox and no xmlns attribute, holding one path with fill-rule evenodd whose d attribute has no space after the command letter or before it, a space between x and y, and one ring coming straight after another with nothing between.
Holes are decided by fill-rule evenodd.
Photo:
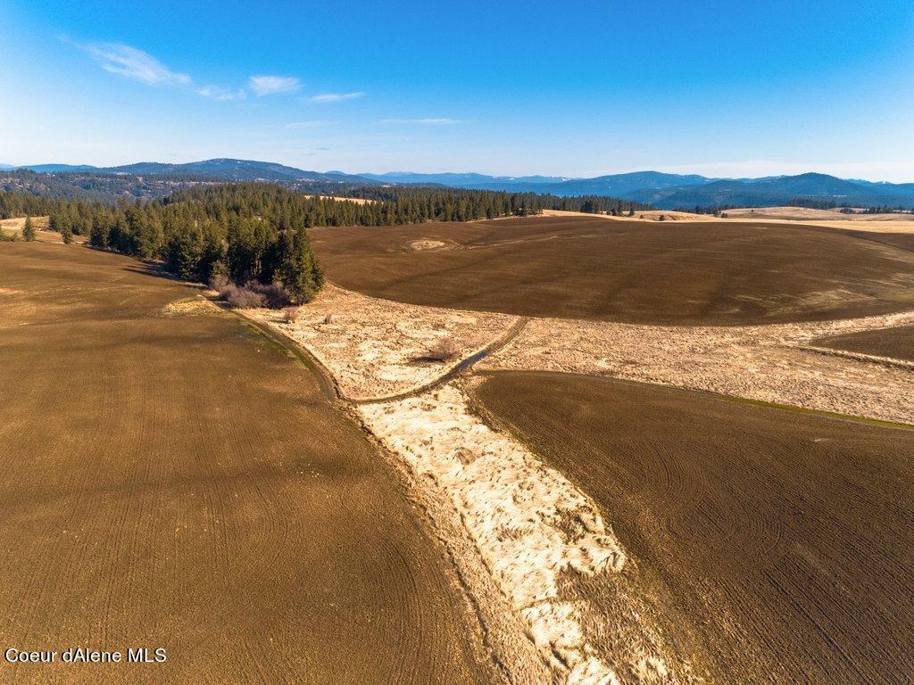
<instances>
[{"instance_id":1,"label":"dark brown plowed field in the lower right foreground","mask_svg":"<svg viewBox=\"0 0 914 685\"><path fill-rule=\"evenodd\" d=\"M566 374L475 395L598 503L699 675L914 678L914 431Z\"/></svg>"}]
</instances>

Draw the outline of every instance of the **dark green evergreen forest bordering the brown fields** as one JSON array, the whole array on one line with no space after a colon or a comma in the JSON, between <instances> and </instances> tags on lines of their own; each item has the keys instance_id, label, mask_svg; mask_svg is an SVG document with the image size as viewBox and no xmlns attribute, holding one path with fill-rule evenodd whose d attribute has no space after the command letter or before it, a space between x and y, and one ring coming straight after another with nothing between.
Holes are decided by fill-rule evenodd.
<instances>
[{"instance_id":1,"label":"dark green evergreen forest bordering the brown fields","mask_svg":"<svg viewBox=\"0 0 914 685\"><path fill-rule=\"evenodd\" d=\"M0 216L50 216L65 242L86 236L95 248L161 260L183 279L224 275L236 284L279 283L310 299L323 273L306 229L392 226L527 216L544 208L619 213L645 205L605 197L557 197L452 188L360 188L356 202L249 182L179 190L154 200L62 199L0 193Z\"/></svg>"}]
</instances>

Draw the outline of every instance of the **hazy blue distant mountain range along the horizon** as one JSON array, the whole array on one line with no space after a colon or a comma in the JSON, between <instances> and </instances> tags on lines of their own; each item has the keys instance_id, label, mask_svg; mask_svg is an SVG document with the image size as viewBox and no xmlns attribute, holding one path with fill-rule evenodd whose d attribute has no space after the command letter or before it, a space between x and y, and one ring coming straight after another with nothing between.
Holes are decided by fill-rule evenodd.
<instances>
[{"instance_id":1,"label":"hazy blue distant mountain range along the horizon","mask_svg":"<svg viewBox=\"0 0 914 685\"><path fill-rule=\"evenodd\" d=\"M0 169L10 170L9 164ZM349 185L422 184L453 188L502 190L552 195L606 195L650 203L661 209L702 206L785 205L796 200L821 200L837 205L914 207L914 183L890 184L847 180L827 174L766 178L707 178L696 174L645 171L595 178L563 176L492 176L486 174L344 174L313 172L271 162L211 159L203 162L141 162L123 166L31 164L23 167L45 174L129 174L133 176L193 176L220 181L277 183L338 183Z\"/></svg>"}]
</instances>

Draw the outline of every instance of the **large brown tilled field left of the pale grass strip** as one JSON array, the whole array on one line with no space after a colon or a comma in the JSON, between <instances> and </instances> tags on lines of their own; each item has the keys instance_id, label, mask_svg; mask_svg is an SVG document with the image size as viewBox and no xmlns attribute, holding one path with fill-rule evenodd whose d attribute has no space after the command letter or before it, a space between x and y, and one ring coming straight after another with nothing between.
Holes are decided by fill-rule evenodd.
<instances>
[{"instance_id":1,"label":"large brown tilled field left of the pale grass strip","mask_svg":"<svg viewBox=\"0 0 914 685\"><path fill-rule=\"evenodd\" d=\"M314 375L195 290L0 245L2 682L494 680L452 566Z\"/></svg>"}]
</instances>

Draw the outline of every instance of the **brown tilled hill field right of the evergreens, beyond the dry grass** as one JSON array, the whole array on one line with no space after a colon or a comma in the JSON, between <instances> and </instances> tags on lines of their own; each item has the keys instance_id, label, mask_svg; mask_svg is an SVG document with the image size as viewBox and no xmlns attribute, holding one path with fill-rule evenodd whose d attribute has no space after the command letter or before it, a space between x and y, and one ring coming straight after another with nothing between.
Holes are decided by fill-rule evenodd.
<instances>
[{"instance_id":1,"label":"brown tilled hill field right of the evergreens, beyond the dry grass","mask_svg":"<svg viewBox=\"0 0 914 685\"><path fill-rule=\"evenodd\" d=\"M463 310L733 325L914 304L914 253L822 227L540 216L321 228L312 241L345 288ZM449 248L402 249L415 241Z\"/></svg>"}]
</instances>

